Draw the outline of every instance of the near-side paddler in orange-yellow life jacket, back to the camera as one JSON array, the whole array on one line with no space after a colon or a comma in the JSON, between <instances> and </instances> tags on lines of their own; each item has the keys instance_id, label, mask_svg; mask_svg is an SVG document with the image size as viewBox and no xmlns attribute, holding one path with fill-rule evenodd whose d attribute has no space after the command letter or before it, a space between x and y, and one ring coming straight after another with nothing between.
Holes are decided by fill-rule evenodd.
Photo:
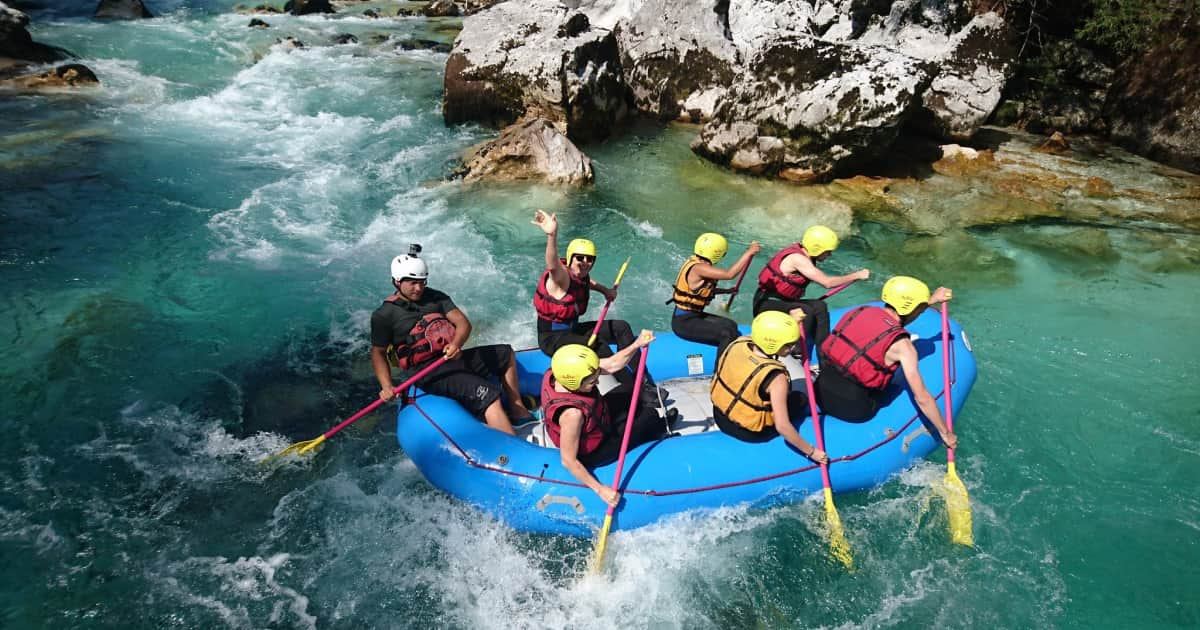
<instances>
[{"instance_id":1,"label":"near-side paddler in orange-yellow life jacket, back to the camera","mask_svg":"<svg viewBox=\"0 0 1200 630\"><path fill-rule=\"evenodd\" d=\"M816 463L829 456L802 438L792 424L792 410L808 416L808 397L792 391L792 379L779 356L800 338L798 319L804 313L767 311L754 318L750 336L738 337L716 361L709 386L713 420L722 433L743 442L768 442L775 437ZM804 410L804 413L802 413Z\"/></svg>"}]
</instances>

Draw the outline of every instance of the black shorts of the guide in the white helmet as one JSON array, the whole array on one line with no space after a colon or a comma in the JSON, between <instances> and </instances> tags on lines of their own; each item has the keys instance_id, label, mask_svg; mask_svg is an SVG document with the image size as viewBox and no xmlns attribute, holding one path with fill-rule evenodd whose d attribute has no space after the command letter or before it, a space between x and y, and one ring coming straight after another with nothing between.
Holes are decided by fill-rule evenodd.
<instances>
[{"instance_id":1,"label":"black shorts of the guide in the white helmet","mask_svg":"<svg viewBox=\"0 0 1200 630\"><path fill-rule=\"evenodd\" d=\"M508 343L478 346L430 372L418 385L434 396L462 404L475 418L500 398L499 382L514 360Z\"/></svg>"}]
</instances>

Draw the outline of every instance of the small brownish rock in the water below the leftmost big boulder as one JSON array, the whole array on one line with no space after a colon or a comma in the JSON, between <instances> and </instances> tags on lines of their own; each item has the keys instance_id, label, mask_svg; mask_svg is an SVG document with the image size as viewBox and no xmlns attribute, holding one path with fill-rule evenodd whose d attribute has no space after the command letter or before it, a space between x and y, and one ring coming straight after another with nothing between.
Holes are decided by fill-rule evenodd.
<instances>
[{"instance_id":1,"label":"small brownish rock in the water below the leftmost big boulder","mask_svg":"<svg viewBox=\"0 0 1200 630\"><path fill-rule=\"evenodd\" d=\"M578 186L593 180L592 160L552 122L532 119L470 151L458 170L464 181L544 181Z\"/></svg>"}]
</instances>

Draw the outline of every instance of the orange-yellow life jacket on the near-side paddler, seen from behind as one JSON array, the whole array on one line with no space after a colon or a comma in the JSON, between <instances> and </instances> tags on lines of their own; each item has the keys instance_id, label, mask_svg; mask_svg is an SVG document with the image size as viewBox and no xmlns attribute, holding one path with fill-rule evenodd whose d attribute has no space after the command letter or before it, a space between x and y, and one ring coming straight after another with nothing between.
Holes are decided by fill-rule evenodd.
<instances>
[{"instance_id":1,"label":"orange-yellow life jacket on the near-side paddler, seen from behind","mask_svg":"<svg viewBox=\"0 0 1200 630\"><path fill-rule=\"evenodd\" d=\"M750 337L738 337L716 362L708 389L713 407L749 431L758 432L774 425L770 400L762 397L762 384L775 372L787 373L787 367L776 359L755 354Z\"/></svg>"}]
</instances>

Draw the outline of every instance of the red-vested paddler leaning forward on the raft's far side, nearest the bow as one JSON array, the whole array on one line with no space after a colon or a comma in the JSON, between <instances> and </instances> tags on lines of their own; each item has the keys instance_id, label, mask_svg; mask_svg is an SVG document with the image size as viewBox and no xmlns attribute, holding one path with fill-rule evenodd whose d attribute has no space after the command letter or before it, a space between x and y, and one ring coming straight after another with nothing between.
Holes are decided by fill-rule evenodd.
<instances>
[{"instance_id":1,"label":"red-vested paddler leaning forward on the raft's far side, nearest the bow","mask_svg":"<svg viewBox=\"0 0 1200 630\"><path fill-rule=\"evenodd\" d=\"M814 346L829 336L829 306L822 299L804 299L810 283L827 289L871 277L870 270L830 276L817 269L838 248L838 234L826 226L812 226L800 242L793 242L775 253L758 272L758 290L754 294L754 314L764 311L804 311L804 338Z\"/></svg>"}]
</instances>

